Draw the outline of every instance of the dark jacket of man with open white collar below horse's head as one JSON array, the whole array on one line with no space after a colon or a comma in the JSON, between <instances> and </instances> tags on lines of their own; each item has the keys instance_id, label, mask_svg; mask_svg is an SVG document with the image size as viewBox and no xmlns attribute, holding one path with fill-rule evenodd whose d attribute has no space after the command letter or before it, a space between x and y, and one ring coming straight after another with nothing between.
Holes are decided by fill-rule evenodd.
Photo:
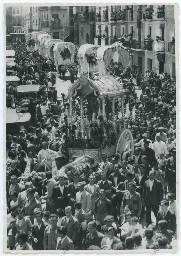
<instances>
[{"instance_id":1,"label":"dark jacket of man with open white collar below horse's head","mask_svg":"<svg viewBox=\"0 0 181 256\"><path fill-rule=\"evenodd\" d=\"M65 207L68 205L69 198L67 198L67 194L68 194L67 189L68 189L68 186L64 185L64 190L62 195L59 185L53 188L53 198L55 199L55 210L57 210L58 208L65 209ZM58 199L59 196L64 196L64 199Z\"/></svg>"}]
</instances>

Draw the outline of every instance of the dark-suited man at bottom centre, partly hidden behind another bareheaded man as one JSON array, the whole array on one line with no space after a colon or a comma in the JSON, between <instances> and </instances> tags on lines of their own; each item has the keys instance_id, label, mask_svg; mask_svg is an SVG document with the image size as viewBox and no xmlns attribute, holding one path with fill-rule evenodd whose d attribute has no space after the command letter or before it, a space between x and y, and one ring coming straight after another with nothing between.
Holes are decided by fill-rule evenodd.
<instances>
[{"instance_id":1,"label":"dark-suited man at bottom centre, partly hidden behind another bareheaded man","mask_svg":"<svg viewBox=\"0 0 181 256\"><path fill-rule=\"evenodd\" d=\"M85 212L85 221L81 223L79 232L78 232L78 238L75 242L75 250L87 250L87 242L86 242L86 236L87 236L87 225L89 222L93 221L93 211L87 210ZM101 225L98 221L95 221L96 223L96 230L98 232L101 231Z\"/></svg>"}]
</instances>

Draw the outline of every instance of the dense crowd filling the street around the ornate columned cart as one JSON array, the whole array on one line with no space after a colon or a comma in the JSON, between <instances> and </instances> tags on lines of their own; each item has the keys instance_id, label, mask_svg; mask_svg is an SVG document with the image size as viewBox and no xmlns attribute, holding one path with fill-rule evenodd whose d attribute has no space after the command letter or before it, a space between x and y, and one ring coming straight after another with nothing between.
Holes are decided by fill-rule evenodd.
<instances>
[{"instance_id":1,"label":"dense crowd filling the street around the ornate columned cart","mask_svg":"<svg viewBox=\"0 0 181 256\"><path fill-rule=\"evenodd\" d=\"M27 76L30 83L46 85L48 72L55 69L53 60L29 53L21 43L7 43L7 49L11 48L16 51L16 74L22 84L27 84L23 82ZM134 155L126 155L126 160L102 154L102 162L83 165L81 175L70 170L57 179L49 169L45 173L36 169L48 155L59 151L56 142L64 132L58 117L68 103L53 94L52 79L42 99L31 105L34 123L16 136L7 134L10 250L175 248L176 77L153 70L144 75L135 65L116 77L128 89L125 105L129 103ZM140 98L136 87L142 89ZM118 116L118 100L115 108ZM76 114L80 115L79 102ZM61 156L68 162L66 147Z\"/></svg>"}]
</instances>

